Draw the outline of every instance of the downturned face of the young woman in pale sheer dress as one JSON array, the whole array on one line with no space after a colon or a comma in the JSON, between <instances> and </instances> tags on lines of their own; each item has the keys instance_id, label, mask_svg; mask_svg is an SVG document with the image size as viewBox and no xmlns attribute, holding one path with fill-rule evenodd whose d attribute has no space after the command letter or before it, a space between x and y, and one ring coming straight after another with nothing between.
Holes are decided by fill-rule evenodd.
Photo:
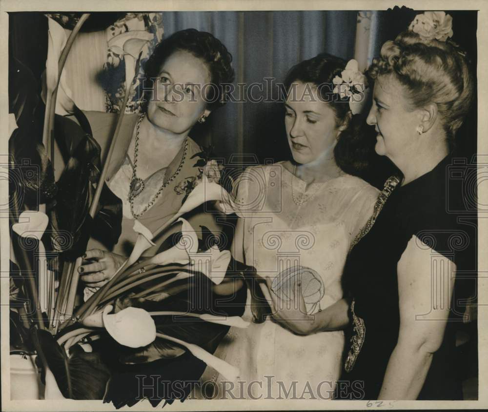
<instances>
[{"instance_id":1,"label":"downturned face of the young woman in pale sheer dress","mask_svg":"<svg viewBox=\"0 0 488 412\"><path fill-rule=\"evenodd\" d=\"M292 83L285 109L286 137L293 159L306 164L332 157L339 129L334 110L319 98L317 87Z\"/></svg>"}]
</instances>

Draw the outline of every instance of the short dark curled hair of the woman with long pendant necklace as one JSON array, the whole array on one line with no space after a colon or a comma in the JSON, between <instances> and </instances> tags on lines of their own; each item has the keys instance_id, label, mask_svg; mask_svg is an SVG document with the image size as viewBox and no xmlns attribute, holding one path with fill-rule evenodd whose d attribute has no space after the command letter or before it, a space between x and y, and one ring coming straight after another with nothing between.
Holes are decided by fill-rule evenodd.
<instances>
[{"instance_id":1,"label":"short dark curled hair of the woman with long pendant necklace","mask_svg":"<svg viewBox=\"0 0 488 412\"><path fill-rule=\"evenodd\" d=\"M210 82L213 85L209 92L211 97L207 101L208 109L213 110L224 105L228 95L228 89L224 85L234 81L232 55L219 39L210 33L196 29L173 33L156 46L144 66L146 84L149 88L153 87L152 79L158 78L161 66L166 59L176 51L191 53L205 62L210 73Z\"/></svg>"}]
</instances>

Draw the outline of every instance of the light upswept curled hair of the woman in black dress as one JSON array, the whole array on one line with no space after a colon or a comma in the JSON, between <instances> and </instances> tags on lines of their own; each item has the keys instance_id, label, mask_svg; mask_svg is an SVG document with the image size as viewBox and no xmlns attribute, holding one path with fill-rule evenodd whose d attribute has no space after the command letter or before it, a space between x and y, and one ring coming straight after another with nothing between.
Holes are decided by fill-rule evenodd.
<instances>
[{"instance_id":1,"label":"light upswept curled hair of the woman in black dress","mask_svg":"<svg viewBox=\"0 0 488 412\"><path fill-rule=\"evenodd\" d=\"M407 92L412 109L436 103L449 146L468 113L473 92L466 53L451 40L424 40L413 31L386 41L370 78L393 75Z\"/></svg>"}]
</instances>

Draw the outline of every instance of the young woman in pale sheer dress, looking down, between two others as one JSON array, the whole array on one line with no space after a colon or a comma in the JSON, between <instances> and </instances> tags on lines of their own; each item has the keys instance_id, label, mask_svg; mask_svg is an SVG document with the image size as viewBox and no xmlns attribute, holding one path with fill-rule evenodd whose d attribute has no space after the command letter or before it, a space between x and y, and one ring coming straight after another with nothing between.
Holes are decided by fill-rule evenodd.
<instances>
[{"instance_id":1,"label":"young woman in pale sheer dress, looking down, between two others","mask_svg":"<svg viewBox=\"0 0 488 412\"><path fill-rule=\"evenodd\" d=\"M378 196L377 189L350 174L366 166L366 151L358 147L352 161L354 150L345 149L360 133L351 110L359 112L355 102L364 95L356 92L364 92L364 76L354 60L346 66L321 54L293 67L285 87L292 160L244 171L237 185L240 219L233 243L234 258L262 278L258 292L262 287L272 309L259 306L257 285L248 285L251 304L244 318L254 315L254 323L244 331L231 328L216 355L240 369L244 388L236 385L236 396L275 397L297 381L298 394L306 385L312 396L329 399L341 369L343 332L301 336L275 320L293 301L295 288L310 315L342 298L346 255ZM266 314L272 316L263 320ZM209 369L202 380L207 379L216 381L217 374ZM219 378L224 391L228 384Z\"/></svg>"}]
</instances>

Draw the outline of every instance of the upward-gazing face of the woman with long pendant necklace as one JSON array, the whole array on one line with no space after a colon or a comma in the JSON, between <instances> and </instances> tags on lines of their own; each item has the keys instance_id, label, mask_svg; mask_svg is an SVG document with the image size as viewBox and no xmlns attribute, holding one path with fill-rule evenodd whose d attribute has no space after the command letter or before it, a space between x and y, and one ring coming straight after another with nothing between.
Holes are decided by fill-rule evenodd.
<instances>
[{"instance_id":1,"label":"upward-gazing face of the woman with long pendant necklace","mask_svg":"<svg viewBox=\"0 0 488 412\"><path fill-rule=\"evenodd\" d=\"M186 51L175 51L163 63L154 81L147 118L174 134L188 132L206 109L205 89L210 82L206 64Z\"/></svg>"}]
</instances>

